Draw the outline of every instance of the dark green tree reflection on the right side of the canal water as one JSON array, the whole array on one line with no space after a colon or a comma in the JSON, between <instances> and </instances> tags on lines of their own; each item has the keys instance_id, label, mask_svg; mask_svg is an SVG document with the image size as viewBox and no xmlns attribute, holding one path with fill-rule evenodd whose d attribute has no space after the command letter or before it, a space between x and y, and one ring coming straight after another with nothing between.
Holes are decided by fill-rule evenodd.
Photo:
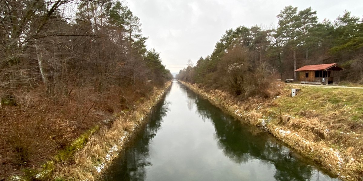
<instances>
[{"instance_id":1,"label":"dark green tree reflection on the right side of the canal water","mask_svg":"<svg viewBox=\"0 0 363 181\"><path fill-rule=\"evenodd\" d=\"M198 113L213 121L219 148L231 160L246 164L250 160L264 160L274 165L276 180L311 180L313 167L293 156L291 150L267 133L247 124L241 125L203 98L195 99ZM208 108L208 109L205 109Z\"/></svg>"}]
</instances>

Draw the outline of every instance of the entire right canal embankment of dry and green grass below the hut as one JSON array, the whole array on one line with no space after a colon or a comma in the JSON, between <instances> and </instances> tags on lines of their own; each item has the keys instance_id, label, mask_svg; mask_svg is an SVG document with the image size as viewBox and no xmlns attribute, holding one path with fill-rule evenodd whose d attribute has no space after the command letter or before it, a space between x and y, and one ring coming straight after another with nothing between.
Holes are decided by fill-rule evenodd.
<instances>
[{"instance_id":1,"label":"entire right canal embankment of dry and green grass below the hut","mask_svg":"<svg viewBox=\"0 0 363 181\"><path fill-rule=\"evenodd\" d=\"M238 100L184 83L237 117L266 129L343 180L363 180L363 90L291 86L274 98Z\"/></svg>"}]
</instances>

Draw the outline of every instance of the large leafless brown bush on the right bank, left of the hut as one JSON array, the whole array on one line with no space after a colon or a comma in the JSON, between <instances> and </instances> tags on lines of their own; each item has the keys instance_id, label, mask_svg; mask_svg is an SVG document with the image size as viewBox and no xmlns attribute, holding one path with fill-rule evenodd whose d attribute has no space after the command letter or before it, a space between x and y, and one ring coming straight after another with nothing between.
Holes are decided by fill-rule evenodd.
<instances>
[{"instance_id":1,"label":"large leafless brown bush on the right bank, left of the hut","mask_svg":"<svg viewBox=\"0 0 363 181\"><path fill-rule=\"evenodd\" d=\"M218 63L217 72L211 75L211 87L222 88L244 98L272 97L281 92L278 72L267 62L254 68L251 52L242 46L233 47Z\"/></svg>"}]
</instances>

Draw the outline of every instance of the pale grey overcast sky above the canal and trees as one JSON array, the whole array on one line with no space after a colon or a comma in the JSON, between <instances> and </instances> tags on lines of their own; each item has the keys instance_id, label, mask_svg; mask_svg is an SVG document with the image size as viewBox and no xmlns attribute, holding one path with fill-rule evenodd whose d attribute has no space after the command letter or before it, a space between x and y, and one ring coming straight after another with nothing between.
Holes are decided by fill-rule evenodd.
<instances>
[{"instance_id":1,"label":"pale grey overcast sky above the canal and trees","mask_svg":"<svg viewBox=\"0 0 363 181\"><path fill-rule=\"evenodd\" d=\"M188 59L211 54L225 30L240 25L277 26L285 6L311 7L319 22L334 20L344 10L362 18L362 0L126 0L142 22L147 48L160 52L163 64L179 72ZM172 68L175 67L175 68Z\"/></svg>"}]
</instances>

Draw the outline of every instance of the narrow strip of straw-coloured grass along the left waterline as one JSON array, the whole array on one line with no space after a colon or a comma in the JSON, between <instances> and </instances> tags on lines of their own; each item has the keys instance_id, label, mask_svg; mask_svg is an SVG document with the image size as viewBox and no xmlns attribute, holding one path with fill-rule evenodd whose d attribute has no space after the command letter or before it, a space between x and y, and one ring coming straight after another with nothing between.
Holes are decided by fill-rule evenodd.
<instances>
[{"instance_id":1,"label":"narrow strip of straw-coloured grass along the left waterline","mask_svg":"<svg viewBox=\"0 0 363 181\"><path fill-rule=\"evenodd\" d=\"M154 89L150 97L137 103L137 109L120 113L111 127L103 127L88 138L85 146L68 161L52 162L51 180L93 181L100 178L129 139L147 122L145 118L165 96L170 86L171 82L168 82L163 88ZM45 171L47 172L47 169ZM40 179L42 179L41 173Z\"/></svg>"}]
</instances>

